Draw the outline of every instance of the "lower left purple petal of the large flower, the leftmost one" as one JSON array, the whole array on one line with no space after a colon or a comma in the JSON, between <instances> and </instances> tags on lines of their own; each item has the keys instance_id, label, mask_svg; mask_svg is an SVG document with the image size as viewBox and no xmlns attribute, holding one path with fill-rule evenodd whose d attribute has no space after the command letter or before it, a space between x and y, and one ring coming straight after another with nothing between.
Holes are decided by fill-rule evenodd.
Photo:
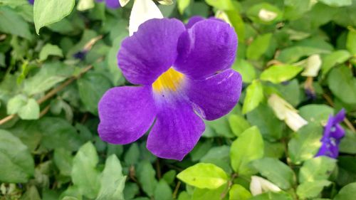
<instances>
[{"instance_id":1,"label":"lower left purple petal of the large flower, the leftmost one","mask_svg":"<svg viewBox=\"0 0 356 200\"><path fill-rule=\"evenodd\" d=\"M102 140L127 144L138 140L152 125L156 116L150 87L117 87L108 90L99 102Z\"/></svg>"}]
</instances>

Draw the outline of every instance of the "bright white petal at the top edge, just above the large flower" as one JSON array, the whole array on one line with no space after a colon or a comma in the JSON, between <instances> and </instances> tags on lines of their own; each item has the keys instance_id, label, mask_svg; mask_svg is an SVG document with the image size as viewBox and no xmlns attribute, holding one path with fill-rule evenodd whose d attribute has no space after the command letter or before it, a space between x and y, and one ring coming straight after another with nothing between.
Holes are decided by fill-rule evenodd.
<instances>
[{"instance_id":1,"label":"bright white petal at the top edge, just above the large flower","mask_svg":"<svg viewBox=\"0 0 356 200\"><path fill-rule=\"evenodd\" d=\"M129 33L133 35L138 27L149 19L162 19L163 15L152 0L135 0L130 15Z\"/></svg>"}]
</instances>

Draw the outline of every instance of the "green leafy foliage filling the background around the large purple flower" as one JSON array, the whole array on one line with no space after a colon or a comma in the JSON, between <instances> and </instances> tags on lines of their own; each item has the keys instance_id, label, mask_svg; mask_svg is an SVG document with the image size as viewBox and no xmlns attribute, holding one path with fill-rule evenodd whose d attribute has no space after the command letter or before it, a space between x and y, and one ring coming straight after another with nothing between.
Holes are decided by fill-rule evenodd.
<instances>
[{"instance_id":1,"label":"green leafy foliage filling the background around the large purple flower","mask_svg":"<svg viewBox=\"0 0 356 200\"><path fill-rule=\"evenodd\" d=\"M0 199L356 199L355 0L159 5L182 21L216 16L239 36L240 102L206 122L182 162L157 159L145 138L98 137L98 100L128 84L116 55L133 1L121 9L61 1L66 8L33 12L26 0L0 0ZM273 94L288 105L273 106ZM323 125L342 107L340 157L315 158ZM308 125L293 131L286 110ZM281 191L251 196L252 175Z\"/></svg>"}]
</instances>

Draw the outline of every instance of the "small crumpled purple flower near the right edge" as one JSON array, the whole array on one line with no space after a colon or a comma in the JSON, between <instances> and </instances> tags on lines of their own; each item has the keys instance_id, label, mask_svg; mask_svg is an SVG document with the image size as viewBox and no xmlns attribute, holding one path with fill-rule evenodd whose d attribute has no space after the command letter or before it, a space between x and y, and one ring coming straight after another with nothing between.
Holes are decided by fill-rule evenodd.
<instances>
[{"instance_id":1,"label":"small crumpled purple flower near the right edge","mask_svg":"<svg viewBox=\"0 0 356 200\"><path fill-rule=\"evenodd\" d=\"M328 156L337 158L339 155L340 140L345 136L345 130L339 125L339 123L344 119L344 109L340 110L335 117L329 117L328 123L324 128L324 135L320 140L320 142L322 142L321 147L315 157Z\"/></svg>"}]
</instances>

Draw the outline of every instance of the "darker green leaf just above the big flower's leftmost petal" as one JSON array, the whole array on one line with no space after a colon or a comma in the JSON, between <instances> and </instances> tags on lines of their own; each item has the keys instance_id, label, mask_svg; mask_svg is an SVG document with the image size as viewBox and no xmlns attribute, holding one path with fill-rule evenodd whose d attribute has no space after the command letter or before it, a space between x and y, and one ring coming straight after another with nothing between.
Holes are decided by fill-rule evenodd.
<instances>
[{"instance_id":1,"label":"darker green leaf just above the big flower's leftmost petal","mask_svg":"<svg viewBox=\"0 0 356 200\"><path fill-rule=\"evenodd\" d=\"M108 78L100 73L88 72L77 81L80 100L85 108L98 115L98 102L104 93L111 88Z\"/></svg>"}]
</instances>

